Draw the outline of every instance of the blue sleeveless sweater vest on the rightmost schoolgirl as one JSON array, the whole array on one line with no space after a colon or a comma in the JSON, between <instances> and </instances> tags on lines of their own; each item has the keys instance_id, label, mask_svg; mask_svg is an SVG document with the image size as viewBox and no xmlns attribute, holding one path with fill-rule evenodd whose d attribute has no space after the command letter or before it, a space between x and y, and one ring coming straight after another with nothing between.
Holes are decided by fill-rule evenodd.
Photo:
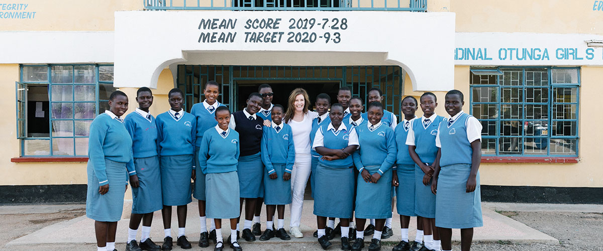
<instances>
[{"instance_id":1,"label":"blue sleeveless sweater vest on the rightmost schoolgirl","mask_svg":"<svg viewBox=\"0 0 603 251\"><path fill-rule=\"evenodd\" d=\"M471 164L473 148L467 140L467 119L470 115L461 114L450 127L448 120L440 123L440 144L442 146L440 166L453 164Z\"/></svg>"}]
</instances>

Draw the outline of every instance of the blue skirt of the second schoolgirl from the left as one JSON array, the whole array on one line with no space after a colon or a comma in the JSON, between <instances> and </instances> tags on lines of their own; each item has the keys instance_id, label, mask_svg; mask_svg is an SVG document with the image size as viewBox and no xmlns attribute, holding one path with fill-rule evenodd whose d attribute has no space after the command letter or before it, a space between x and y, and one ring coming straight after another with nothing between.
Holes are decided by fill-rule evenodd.
<instances>
[{"instance_id":1,"label":"blue skirt of the second schoolgirl from the left","mask_svg":"<svg viewBox=\"0 0 603 251\"><path fill-rule=\"evenodd\" d=\"M134 158L139 187L132 188L132 213L147 214L163 208L159 156Z\"/></svg>"}]
</instances>

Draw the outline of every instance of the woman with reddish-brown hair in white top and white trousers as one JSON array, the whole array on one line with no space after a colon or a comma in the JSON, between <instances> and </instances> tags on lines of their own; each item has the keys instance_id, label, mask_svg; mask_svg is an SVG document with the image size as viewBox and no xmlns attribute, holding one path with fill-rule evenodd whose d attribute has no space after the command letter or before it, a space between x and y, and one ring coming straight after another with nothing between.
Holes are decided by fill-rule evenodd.
<instances>
[{"instance_id":1,"label":"woman with reddish-brown hair in white top and white trousers","mask_svg":"<svg viewBox=\"0 0 603 251\"><path fill-rule=\"evenodd\" d=\"M291 235L302 238L300 220L301 209L303 208L303 194L306 190L306 183L311 171L312 155L310 154L310 131L312 130L312 120L318 117L318 113L309 111L310 100L308 92L303 88L296 88L291 91L287 111L285 113L285 123L291 126L293 133L293 142L295 144L295 163L291 172Z\"/></svg>"}]
</instances>

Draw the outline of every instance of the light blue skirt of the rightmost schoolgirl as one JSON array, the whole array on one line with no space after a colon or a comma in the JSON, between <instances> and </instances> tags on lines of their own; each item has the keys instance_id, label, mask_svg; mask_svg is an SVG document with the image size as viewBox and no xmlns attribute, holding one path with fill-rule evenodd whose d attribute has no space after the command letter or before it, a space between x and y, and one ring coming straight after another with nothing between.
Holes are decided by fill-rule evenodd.
<instances>
[{"instance_id":1,"label":"light blue skirt of the rightmost schoolgirl","mask_svg":"<svg viewBox=\"0 0 603 251\"><path fill-rule=\"evenodd\" d=\"M441 167L435 203L435 226L460 229L484 226L479 172L475 191L466 192L470 172L470 164Z\"/></svg>"}]
</instances>

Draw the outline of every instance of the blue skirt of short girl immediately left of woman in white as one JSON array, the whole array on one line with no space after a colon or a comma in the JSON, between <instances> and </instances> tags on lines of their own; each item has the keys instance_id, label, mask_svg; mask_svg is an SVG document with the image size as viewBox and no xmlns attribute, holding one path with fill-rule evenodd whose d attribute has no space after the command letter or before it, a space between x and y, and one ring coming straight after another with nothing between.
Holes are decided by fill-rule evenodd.
<instances>
[{"instance_id":1,"label":"blue skirt of short girl immediately left of woman in white","mask_svg":"<svg viewBox=\"0 0 603 251\"><path fill-rule=\"evenodd\" d=\"M291 179L283 180L285 165L273 164L277 178L270 179L268 171L264 169L264 204L287 205L291 204Z\"/></svg>"}]
</instances>

